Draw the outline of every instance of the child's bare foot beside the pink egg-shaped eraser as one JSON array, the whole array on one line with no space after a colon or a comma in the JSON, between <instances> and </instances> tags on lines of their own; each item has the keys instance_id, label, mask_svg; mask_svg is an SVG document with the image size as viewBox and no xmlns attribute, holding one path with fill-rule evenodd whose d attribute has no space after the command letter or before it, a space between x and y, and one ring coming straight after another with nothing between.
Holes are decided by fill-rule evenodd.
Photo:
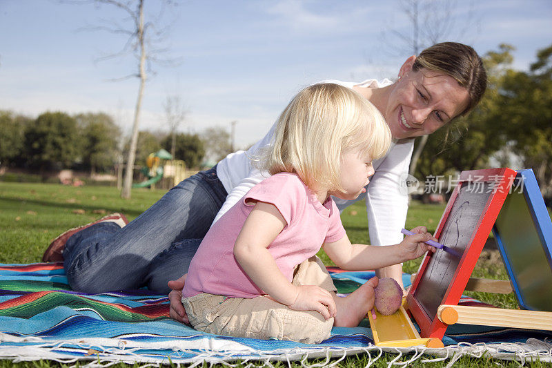
<instances>
[{"instance_id":1,"label":"child's bare foot beside the pink egg-shaped eraser","mask_svg":"<svg viewBox=\"0 0 552 368\"><path fill-rule=\"evenodd\" d=\"M357 327L366 313L374 307L374 288L378 278L371 278L353 293L341 298L332 293L337 307L337 316L333 320L335 327Z\"/></svg>"}]
</instances>

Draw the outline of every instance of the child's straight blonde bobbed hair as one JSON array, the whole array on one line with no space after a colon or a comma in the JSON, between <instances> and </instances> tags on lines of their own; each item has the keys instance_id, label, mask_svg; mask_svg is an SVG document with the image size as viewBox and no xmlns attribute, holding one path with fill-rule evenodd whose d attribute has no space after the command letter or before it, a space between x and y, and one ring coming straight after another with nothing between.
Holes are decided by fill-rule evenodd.
<instances>
[{"instance_id":1,"label":"child's straight blonde bobbed hair","mask_svg":"<svg viewBox=\"0 0 552 368\"><path fill-rule=\"evenodd\" d=\"M297 173L313 191L343 191L342 154L356 150L377 159L391 139L384 117L362 95L339 84L314 84L297 93L279 116L260 165L270 175Z\"/></svg>"}]
</instances>

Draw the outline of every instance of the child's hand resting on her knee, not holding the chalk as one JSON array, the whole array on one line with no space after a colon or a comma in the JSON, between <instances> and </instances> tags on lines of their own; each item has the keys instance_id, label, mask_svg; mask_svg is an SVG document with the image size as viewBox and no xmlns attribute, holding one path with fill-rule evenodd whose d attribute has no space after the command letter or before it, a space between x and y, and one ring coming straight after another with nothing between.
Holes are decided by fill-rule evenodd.
<instances>
[{"instance_id":1,"label":"child's hand resting on her knee, not holding the chalk","mask_svg":"<svg viewBox=\"0 0 552 368\"><path fill-rule=\"evenodd\" d=\"M295 311L317 311L326 320L335 317L337 311L331 293L315 285L301 285L297 287L295 302L289 304Z\"/></svg>"}]
</instances>

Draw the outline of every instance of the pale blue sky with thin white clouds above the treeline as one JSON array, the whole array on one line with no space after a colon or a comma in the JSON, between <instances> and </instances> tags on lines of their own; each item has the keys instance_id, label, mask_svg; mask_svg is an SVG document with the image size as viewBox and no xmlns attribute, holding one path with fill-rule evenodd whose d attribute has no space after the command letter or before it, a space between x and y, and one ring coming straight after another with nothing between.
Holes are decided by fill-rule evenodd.
<instances>
[{"instance_id":1,"label":"pale blue sky with thin white clouds above the treeline","mask_svg":"<svg viewBox=\"0 0 552 368\"><path fill-rule=\"evenodd\" d=\"M149 0L146 17L162 1ZM181 0L159 23L168 26L144 96L141 130L166 130L163 103L177 95L188 115L180 130L230 129L236 143L257 141L297 91L322 79L394 78L412 54L393 30L411 25L398 0ZM437 1L424 24L439 23ZM526 70L552 43L552 1L450 1L451 29L442 40L471 44L480 55L515 46ZM425 13L424 13L425 14ZM137 70L119 52L126 38L84 28L124 23L112 6L54 0L0 0L0 109L36 117L47 110L103 111L130 130L138 79L110 81Z\"/></svg>"}]
</instances>

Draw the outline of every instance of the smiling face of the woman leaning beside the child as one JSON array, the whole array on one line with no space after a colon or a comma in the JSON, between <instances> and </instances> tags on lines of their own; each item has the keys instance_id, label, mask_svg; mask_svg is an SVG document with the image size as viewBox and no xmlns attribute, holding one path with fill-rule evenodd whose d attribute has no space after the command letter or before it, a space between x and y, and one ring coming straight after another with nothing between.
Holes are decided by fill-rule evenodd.
<instances>
[{"instance_id":1,"label":"smiling face of the woman leaning beside the child","mask_svg":"<svg viewBox=\"0 0 552 368\"><path fill-rule=\"evenodd\" d=\"M468 106L468 90L451 76L421 69L414 71L411 57L401 67L400 79L388 98L384 113L393 138L431 134Z\"/></svg>"}]
</instances>

